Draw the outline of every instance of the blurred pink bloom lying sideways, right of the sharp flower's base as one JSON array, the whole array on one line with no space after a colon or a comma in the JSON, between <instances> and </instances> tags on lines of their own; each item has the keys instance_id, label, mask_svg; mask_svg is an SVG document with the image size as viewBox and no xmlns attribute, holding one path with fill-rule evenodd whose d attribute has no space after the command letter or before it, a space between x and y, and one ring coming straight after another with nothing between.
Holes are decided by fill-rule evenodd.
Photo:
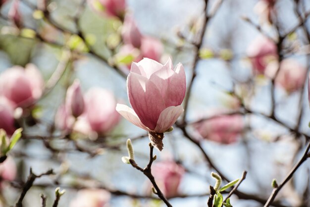
<instances>
[{"instance_id":1,"label":"blurred pink bloom lying sideways, right of the sharp flower's base","mask_svg":"<svg viewBox=\"0 0 310 207\"><path fill-rule=\"evenodd\" d=\"M194 128L203 138L222 144L237 141L243 131L244 123L241 115L220 115L196 123Z\"/></svg>"}]
</instances>

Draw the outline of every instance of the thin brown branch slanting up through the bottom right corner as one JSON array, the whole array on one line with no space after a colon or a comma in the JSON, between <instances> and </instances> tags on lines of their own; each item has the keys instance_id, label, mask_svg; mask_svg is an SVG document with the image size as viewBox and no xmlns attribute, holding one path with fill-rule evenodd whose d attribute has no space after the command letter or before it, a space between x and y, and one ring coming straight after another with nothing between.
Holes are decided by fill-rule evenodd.
<instances>
[{"instance_id":1,"label":"thin brown branch slanting up through the bottom right corner","mask_svg":"<svg viewBox=\"0 0 310 207\"><path fill-rule=\"evenodd\" d=\"M309 149L310 149L310 142L308 143L307 149L306 149L304 155L302 156L302 158L292 168L292 170L289 172L289 174L286 176L286 178L282 181L282 183L277 188L273 189L273 191L272 191L271 195L269 196L269 198L268 198L266 204L264 205L264 207L269 207L272 204L272 202L274 201L274 199L277 196L277 194L279 193L279 191L293 177L293 175L296 172L296 170L307 160L307 158L309 157Z\"/></svg>"}]
</instances>

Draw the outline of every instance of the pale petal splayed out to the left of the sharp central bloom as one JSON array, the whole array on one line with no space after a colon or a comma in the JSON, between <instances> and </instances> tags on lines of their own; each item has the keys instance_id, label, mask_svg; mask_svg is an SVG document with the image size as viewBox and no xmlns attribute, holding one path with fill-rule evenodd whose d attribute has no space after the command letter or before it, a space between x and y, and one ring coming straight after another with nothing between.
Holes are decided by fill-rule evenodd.
<instances>
[{"instance_id":1,"label":"pale petal splayed out to the left of the sharp central bloom","mask_svg":"<svg viewBox=\"0 0 310 207\"><path fill-rule=\"evenodd\" d=\"M125 119L127 119L128 121L130 121L131 123L133 123L134 125L150 131L150 129L148 127L146 127L139 119L139 117L137 116L136 112L128 107L127 105L124 104L116 104L116 111L118 113L120 113L120 115L122 115Z\"/></svg>"}]
</instances>

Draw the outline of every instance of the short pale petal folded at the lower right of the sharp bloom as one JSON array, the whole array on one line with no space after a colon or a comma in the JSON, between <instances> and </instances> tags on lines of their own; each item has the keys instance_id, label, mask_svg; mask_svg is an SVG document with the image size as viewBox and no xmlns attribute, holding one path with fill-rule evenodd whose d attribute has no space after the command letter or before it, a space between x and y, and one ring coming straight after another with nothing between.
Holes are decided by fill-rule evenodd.
<instances>
[{"instance_id":1,"label":"short pale petal folded at the lower right of the sharp bloom","mask_svg":"<svg viewBox=\"0 0 310 207\"><path fill-rule=\"evenodd\" d=\"M181 105L169 106L166 109L164 109L159 115L155 132L157 133L165 132L176 122L176 120L182 114L183 111L184 109Z\"/></svg>"}]
</instances>

